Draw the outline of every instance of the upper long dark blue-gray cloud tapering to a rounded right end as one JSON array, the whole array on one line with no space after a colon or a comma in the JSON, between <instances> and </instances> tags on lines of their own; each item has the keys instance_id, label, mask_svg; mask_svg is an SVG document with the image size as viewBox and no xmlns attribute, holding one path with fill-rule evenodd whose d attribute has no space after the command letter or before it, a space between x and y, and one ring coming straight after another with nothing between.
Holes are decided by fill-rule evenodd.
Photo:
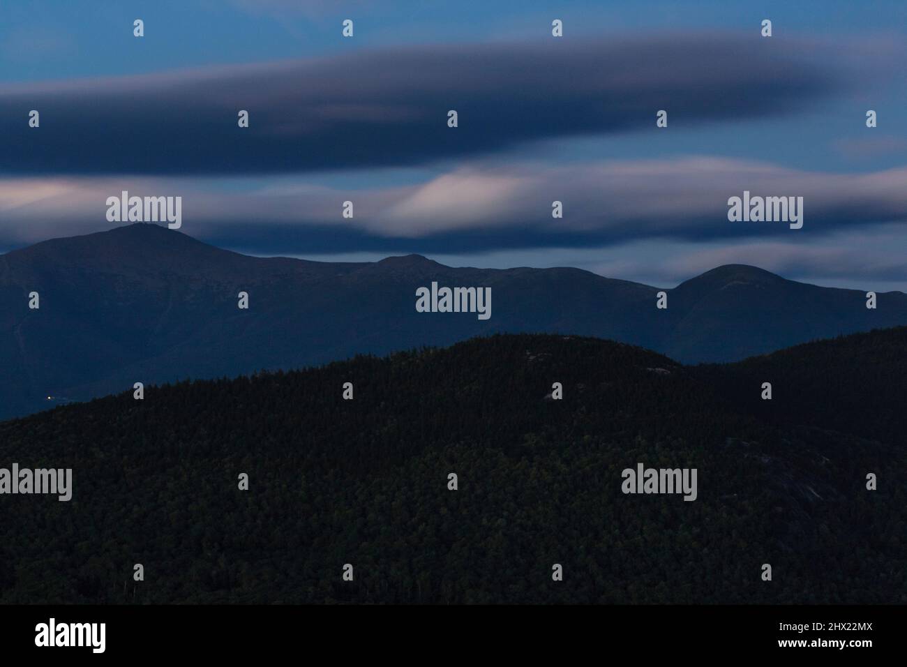
<instances>
[{"instance_id":1,"label":"upper long dark blue-gray cloud tapering to a rounded right end","mask_svg":"<svg viewBox=\"0 0 907 667\"><path fill-rule=\"evenodd\" d=\"M783 41L423 46L320 60L42 83L0 93L0 173L309 172L520 142L790 113L844 81ZM38 130L27 126L41 113ZM237 113L250 113L239 129ZM460 126L449 129L449 109Z\"/></svg>"}]
</instances>

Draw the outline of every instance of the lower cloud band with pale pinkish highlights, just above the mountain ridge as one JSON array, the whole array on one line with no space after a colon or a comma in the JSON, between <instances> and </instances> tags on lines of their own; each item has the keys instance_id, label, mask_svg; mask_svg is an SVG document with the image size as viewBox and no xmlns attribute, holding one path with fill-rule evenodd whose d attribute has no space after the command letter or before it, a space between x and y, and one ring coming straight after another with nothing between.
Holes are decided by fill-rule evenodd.
<instances>
[{"instance_id":1,"label":"lower cloud band with pale pinkish highlights, just above the mountain ridge","mask_svg":"<svg viewBox=\"0 0 907 667\"><path fill-rule=\"evenodd\" d=\"M907 221L907 167L839 174L688 156L570 165L479 161L416 185L356 191L297 179L258 188L243 179L0 181L0 237L41 240L104 229L110 226L104 202L122 190L179 195L185 231L262 253L605 247L642 239L800 242ZM727 199L743 191L803 197L804 228L728 221ZM341 215L344 201L353 202L353 218ZM562 218L551 216L552 201L561 201Z\"/></svg>"}]
</instances>

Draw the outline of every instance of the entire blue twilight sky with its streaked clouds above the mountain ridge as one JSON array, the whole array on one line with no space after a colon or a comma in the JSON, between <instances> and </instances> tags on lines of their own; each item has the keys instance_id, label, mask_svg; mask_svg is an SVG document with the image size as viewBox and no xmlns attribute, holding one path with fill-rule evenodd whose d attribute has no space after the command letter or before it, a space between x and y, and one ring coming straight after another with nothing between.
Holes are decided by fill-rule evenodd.
<instances>
[{"instance_id":1,"label":"entire blue twilight sky with its streaked clouds above the mountain ridge","mask_svg":"<svg viewBox=\"0 0 907 667\"><path fill-rule=\"evenodd\" d=\"M3 3L0 251L127 190L249 254L907 291L905 55L900 0ZM727 221L745 190L803 229Z\"/></svg>"}]
</instances>

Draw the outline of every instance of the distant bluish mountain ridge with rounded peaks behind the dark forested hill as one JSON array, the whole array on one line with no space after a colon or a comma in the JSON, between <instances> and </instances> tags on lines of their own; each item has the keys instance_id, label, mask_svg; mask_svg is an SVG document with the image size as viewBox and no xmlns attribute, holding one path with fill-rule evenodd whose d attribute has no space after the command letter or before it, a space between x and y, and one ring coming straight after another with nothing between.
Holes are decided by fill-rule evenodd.
<instances>
[{"instance_id":1,"label":"distant bluish mountain ridge with rounded peaks behind the dark forested hill","mask_svg":"<svg viewBox=\"0 0 907 667\"><path fill-rule=\"evenodd\" d=\"M491 287L492 317L419 313L415 289ZM28 294L40 309L28 309ZM239 291L249 309L237 308ZM564 333L684 363L732 361L817 338L907 324L907 295L785 280L728 265L668 293L585 270L451 268L256 258L153 224L48 240L0 256L0 417L137 381L238 376L357 353L446 346L496 332Z\"/></svg>"}]
</instances>

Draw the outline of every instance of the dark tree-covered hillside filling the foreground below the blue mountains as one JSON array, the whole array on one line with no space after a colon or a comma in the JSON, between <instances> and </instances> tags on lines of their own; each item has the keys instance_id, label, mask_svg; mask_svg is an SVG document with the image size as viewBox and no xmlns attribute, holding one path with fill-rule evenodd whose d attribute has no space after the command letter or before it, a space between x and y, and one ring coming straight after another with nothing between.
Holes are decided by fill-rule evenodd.
<instances>
[{"instance_id":1,"label":"dark tree-covered hillside filling the foreground below the blue mountains","mask_svg":"<svg viewBox=\"0 0 907 667\"><path fill-rule=\"evenodd\" d=\"M72 467L73 499L0 496L0 603L907 603L903 411L848 421L904 395L877 335L889 375L820 354L859 337L688 368L507 335L5 422L0 466ZM769 362L791 418L746 404ZM623 494L638 463L697 499Z\"/></svg>"}]
</instances>

